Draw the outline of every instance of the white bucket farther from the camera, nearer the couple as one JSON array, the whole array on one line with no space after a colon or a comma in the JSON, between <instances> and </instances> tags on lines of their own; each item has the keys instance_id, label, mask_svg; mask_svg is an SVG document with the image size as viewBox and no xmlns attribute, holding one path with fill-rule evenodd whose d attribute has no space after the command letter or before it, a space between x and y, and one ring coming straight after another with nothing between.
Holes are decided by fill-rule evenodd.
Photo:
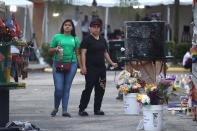
<instances>
[{"instance_id":1,"label":"white bucket farther from the camera, nearer the couple","mask_svg":"<svg viewBox=\"0 0 197 131\"><path fill-rule=\"evenodd\" d=\"M125 114L137 115L140 112L140 106L137 102L137 93L128 93L123 96Z\"/></svg>"}]
</instances>

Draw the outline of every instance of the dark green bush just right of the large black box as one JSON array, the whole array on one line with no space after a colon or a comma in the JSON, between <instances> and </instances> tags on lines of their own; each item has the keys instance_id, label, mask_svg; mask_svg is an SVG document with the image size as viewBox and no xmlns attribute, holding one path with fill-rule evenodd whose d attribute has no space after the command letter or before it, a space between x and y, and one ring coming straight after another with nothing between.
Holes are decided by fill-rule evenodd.
<instances>
[{"instance_id":1,"label":"dark green bush just right of the large black box","mask_svg":"<svg viewBox=\"0 0 197 131\"><path fill-rule=\"evenodd\" d=\"M168 41L166 42L166 51L168 55L174 57L173 64L178 64L182 62L184 54L189 51L191 46L191 43L175 43L174 41Z\"/></svg>"}]
</instances>

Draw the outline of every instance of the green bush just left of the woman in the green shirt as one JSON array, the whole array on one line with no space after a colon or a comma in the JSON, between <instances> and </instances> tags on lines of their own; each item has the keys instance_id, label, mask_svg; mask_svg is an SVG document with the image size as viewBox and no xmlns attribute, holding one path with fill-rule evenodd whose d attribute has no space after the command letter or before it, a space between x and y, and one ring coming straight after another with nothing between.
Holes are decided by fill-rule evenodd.
<instances>
[{"instance_id":1,"label":"green bush just left of the woman in the green shirt","mask_svg":"<svg viewBox=\"0 0 197 131\"><path fill-rule=\"evenodd\" d=\"M47 44L47 43L42 44L42 51L41 51L40 55L44 58L44 61L47 64L52 66L52 64L53 64L53 56L49 55L48 49L49 49L49 44Z\"/></svg>"}]
</instances>

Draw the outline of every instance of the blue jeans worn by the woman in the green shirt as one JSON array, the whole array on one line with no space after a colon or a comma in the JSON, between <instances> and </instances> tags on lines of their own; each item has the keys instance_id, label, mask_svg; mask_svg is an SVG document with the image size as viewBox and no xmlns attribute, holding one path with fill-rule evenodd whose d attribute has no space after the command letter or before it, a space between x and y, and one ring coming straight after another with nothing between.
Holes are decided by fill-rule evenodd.
<instances>
[{"instance_id":1,"label":"blue jeans worn by the woman in the green shirt","mask_svg":"<svg viewBox=\"0 0 197 131\"><path fill-rule=\"evenodd\" d=\"M70 72L66 72L66 73L56 72L55 61L53 62L53 80L55 86L55 92L54 92L55 109L59 108L60 101L62 100L62 111L63 112L67 111L70 87L76 72L77 72L76 62L71 64Z\"/></svg>"}]
</instances>

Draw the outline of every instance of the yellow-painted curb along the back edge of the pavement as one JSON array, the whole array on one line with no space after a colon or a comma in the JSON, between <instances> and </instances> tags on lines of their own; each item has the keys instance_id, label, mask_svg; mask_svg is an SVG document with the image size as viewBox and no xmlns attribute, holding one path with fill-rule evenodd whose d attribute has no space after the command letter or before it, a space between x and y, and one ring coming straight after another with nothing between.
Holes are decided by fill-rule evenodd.
<instances>
[{"instance_id":1,"label":"yellow-painted curb along the back edge of the pavement","mask_svg":"<svg viewBox=\"0 0 197 131\"><path fill-rule=\"evenodd\" d=\"M52 72L52 68L44 68L44 72ZM77 69L77 73L79 72L80 69ZM167 72L190 72L190 70L181 67L169 67Z\"/></svg>"}]
</instances>

